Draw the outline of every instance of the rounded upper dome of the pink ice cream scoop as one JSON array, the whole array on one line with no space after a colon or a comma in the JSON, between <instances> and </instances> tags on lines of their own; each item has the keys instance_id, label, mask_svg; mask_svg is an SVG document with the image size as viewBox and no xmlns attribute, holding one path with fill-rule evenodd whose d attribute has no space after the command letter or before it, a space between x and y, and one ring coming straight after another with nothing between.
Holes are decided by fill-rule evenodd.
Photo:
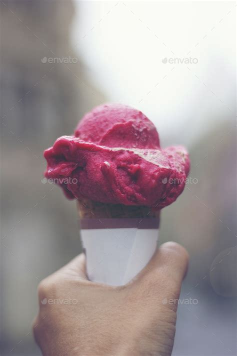
<instances>
[{"instance_id":1,"label":"rounded upper dome of the pink ice cream scoop","mask_svg":"<svg viewBox=\"0 0 237 356\"><path fill-rule=\"evenodd\" d=\"M126 105L100 105L85 114L75 137L107 147L159 148L153 123L141 111Z\"/></svg>"}]
</instances>

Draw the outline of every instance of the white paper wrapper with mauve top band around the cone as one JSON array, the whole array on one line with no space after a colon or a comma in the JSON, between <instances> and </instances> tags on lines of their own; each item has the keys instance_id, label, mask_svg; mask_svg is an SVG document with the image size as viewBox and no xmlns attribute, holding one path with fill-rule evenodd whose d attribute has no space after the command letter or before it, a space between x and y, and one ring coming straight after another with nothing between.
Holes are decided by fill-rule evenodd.
<instances>
[{"instance_id":1,"label":"white paper wrapper with mauve top band around the cone","mask_svg":"<svg viewBox=\"0 0 237 356\"><path fill-rule=\"evenodd\" d=\"M112 227L106 228L104 220L109 221L108 225ZM131 227L133 224L127 223L131 220L142 221L142 226ZM89 228L91 219L87 221L88 224L81 223L80 234L86 254L87 275L91 281L114 286L126 284L145 267L156 249L157 219L98 219L94 228ZM111 224L111 221L115 223ZM117 225L118 228L114 227Z\"/></svg>"}]
</instances>

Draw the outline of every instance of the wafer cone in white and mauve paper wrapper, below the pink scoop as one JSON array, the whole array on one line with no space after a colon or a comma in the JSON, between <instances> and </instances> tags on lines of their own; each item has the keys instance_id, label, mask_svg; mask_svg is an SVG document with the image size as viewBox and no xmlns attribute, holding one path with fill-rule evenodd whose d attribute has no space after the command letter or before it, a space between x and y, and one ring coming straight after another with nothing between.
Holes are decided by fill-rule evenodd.
<instances>
[{"instance_id":1,"label":"wafer cone in white and mauve paper wrapper, below the pink scoop","mask_svg":"<svg viewBox=\"0 0 237 356\"><path fill-rule=\"evenodd\" d=\"M88 278L123 285L148 263L158 239L159 211L147 206L78 200Z\"/></svg>"}]
</instances>

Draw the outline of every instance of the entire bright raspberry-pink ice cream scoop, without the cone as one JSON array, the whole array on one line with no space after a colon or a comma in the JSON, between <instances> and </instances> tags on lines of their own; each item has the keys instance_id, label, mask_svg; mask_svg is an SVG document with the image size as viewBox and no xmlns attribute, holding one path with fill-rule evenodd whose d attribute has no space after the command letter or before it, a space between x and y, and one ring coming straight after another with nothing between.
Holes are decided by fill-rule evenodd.
<instances>
[{"instance_id":1,"label":"entire bright raspberry-pink ice cream scoop, without the cone","mask_svg":"<svg viewBox=\"0 0 237 356\"><path fill-rule=\"evenodd\" d=\"M45 177L68 198L157 210L176 200L189 171L183 147L160 149L151 121L118 104L87 113L75 134L58 138L44 157Z\"/></svg>"}]
</instances>

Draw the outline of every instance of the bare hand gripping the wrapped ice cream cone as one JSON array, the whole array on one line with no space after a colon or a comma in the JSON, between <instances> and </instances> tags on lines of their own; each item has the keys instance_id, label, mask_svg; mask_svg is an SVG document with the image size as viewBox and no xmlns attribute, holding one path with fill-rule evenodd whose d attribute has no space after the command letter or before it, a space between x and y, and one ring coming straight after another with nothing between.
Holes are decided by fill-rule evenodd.
<instances>
[{"instance_id":1,"label":"bare hand gripping the wrapped ice cream cone","mask_svg":"<svg viewBox=\"0 0 237 356\"><path fill-rule=\"evenodd\" d=\"M170 355L187 264L186 250L167 242L133 281L111 287L88 281L84 255L75 257L39 284L33 331L43 355Z\"/></svg>"}]
</instances>

